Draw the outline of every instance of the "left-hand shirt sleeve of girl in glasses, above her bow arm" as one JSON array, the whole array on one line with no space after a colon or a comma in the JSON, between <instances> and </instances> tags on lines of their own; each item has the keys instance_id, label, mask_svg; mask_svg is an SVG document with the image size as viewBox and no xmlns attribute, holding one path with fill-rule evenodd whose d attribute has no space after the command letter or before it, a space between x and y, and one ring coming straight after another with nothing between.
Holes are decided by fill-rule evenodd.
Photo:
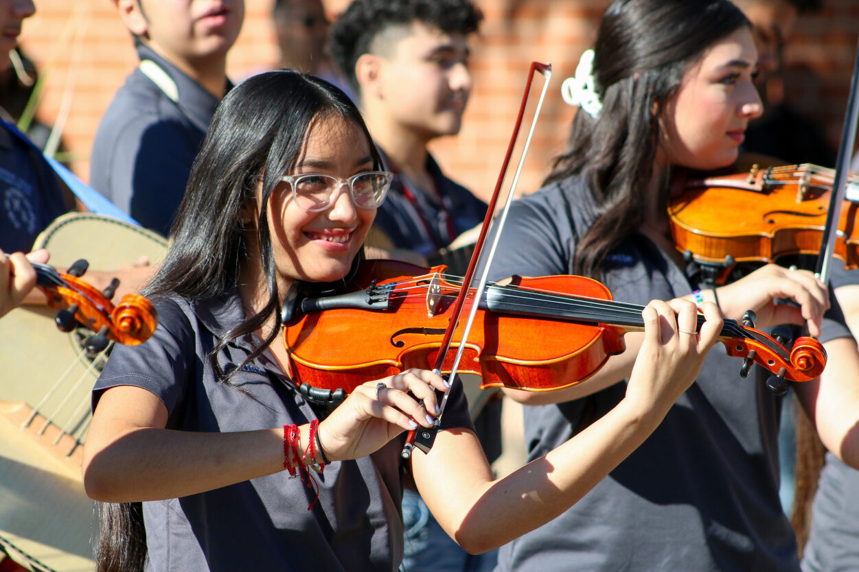
<instances>
[{"instance_id":1,"label":"left-hand shirt sleeve of girl in glasses, above her bow arm","mask_svg":"<svg viewBox=\"0 0 859 572\"><path fill-rule=\"evenodd\" d=\"M113 346L93 388L93 411L105 390L120 385L155 394L167 406L171 418L180 406L194 376L196 336L179 304L166 300L155 308L159 324L149 340L138 346Z\"/></svg>"}]
</instances>

